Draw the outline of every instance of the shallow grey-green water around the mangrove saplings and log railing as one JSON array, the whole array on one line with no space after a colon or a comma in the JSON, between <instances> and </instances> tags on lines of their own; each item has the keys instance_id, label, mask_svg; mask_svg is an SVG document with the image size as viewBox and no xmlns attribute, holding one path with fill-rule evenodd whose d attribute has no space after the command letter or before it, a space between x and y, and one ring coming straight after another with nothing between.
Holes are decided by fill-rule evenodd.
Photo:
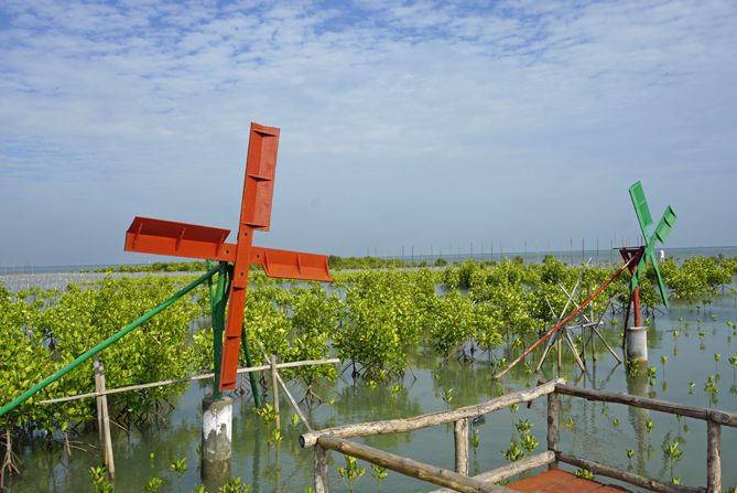
<instances>
[{"instance_id":1,"label":"shallow grey-green water around the mangrove saplings and log railing","mask_svg":"<svg viewBox=\"0 0 737 493\"><path fill-rule=\"evenodd\" d=\"M715 320L712 320L712 314ZM679 322L683 318L689 322ZM702 322L697 322L701 319ZM726 321L737 321L737 297L725 294L712 306L695 307L673 303L670 312L660 315L650 330L650 365L657 369L657 377L649 382L644 369L632 378L627 376L622 365L608 353L599 352L597 361L587 355L588 371L582 374L564 352L562 376L568 383L587 388L629 392L659 399L687 403L696 406L737 411L737 379L729 356L737 352L737 332L727 326ZM674 336L674 331L680 335ZM605 336L620 346L621 323L606 325ZM698 332L703 331L701 337ZM601 344L597 345L601 349ZM505 350L508 360L513 358L517 350ZM720 353L722 361L716 363L715 353ZM668 363L660 363L661 355ZM391 385L369 388L362 382L354 383L347 371L334 384L316 388L333 405L323 404L312 408L308 417L314 428L323 428L348 422L360 422L397 417L407 417L448 407L477 404L508 392L535 384L539 375L529 375L520 365L500 383L492 381L492 369L488 356L476 353L477 360L464 364L452 360L443 364L419 349L414 355L412 371L408 372L402 386L392 390ZM539 353L531 364L537 364ZM544 376L555 376L553 362L549 358L544 366ZM709 401L704 392L707 375L718 375L718 394ZM689 382L693 382L691 388ZM445 390L453 388L453 400L448 405L444 399ZM301 396L304 390L292 386L293 393ZM144 491L145 482L154 475L164 480L162 492L193 491L199 481L198 447L202 420L200 401L209 392L209 384L193 384L175 403L175 409L167 416L167 424L152 426L148 430L123 432L113 427L117 492ZM268 430L252 411L249 395L236 396L234 408L234 459L232 473L252 485L253 492L302 492L312 484L312 461L310 450L302 450L297 444L302 426L291 424L292 411L289 401L282 399L282 435L279 446L267 444ZM571 420L570 420L571 418ZM519 419L529 419L534 425L532 435L540 442L534 453L545 447L545 400L538 399L530 409L520 407L517 412L508 409L487 417L485 424L475 429L479 433L478 448L472 451L470 472L478 473L507 462L502 451L509 447L514 435L513 424ZM652 420L650 433L646 422ZM618 421L615 425L615 420ZM562 398L561 448L578 457L596 460L620 469L630 469L642 475L671 480L671 468L664 459L664 442L679 440L682 458L673 465L673 475L680 476L683 484L703 485L706 480L706 426L704 422L665 415L662 412L627 408L619 405L588 403L578 398ZM67 458L61 447L50 453L37 444L22 446L22 479L14 479L8 491L11 492L69 492L91 491L88 470L98 465L97 432L90 431L75 437L79 446L87 451L73 450ZM364 440L380 449L411 457L415 460L453 468L453 427L440 426L413 433L375 437ZM633 457L627 459L627 449L633 450ZM152 456L153 454L153 456ZM348 491L338 476L337 468L343 465L343 458L332 453L332 491ZM723 486L737 485L737 430L723 428L722 460ZM170 464L186 458L188 469L181 476L170 470ZM366 474L358 480L355 491L376 491L375 480L370 476L368 464ZM382 491L427 491L429 484L390 472L382 484ZM217 491L210 485L209 491Z\"/></svg>"}]
</instances>

